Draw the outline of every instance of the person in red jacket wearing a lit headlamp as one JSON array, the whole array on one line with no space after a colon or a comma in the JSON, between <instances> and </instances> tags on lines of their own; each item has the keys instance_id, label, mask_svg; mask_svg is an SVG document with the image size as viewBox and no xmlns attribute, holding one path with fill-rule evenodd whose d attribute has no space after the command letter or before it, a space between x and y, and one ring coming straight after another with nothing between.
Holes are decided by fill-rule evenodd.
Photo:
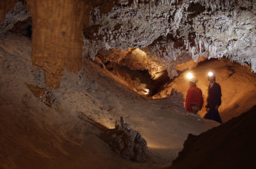
<instances>
[{"instance_id":1,"label":"person in red jacket wearing a lit headlamp","mask_svg":"<svg viewBox=\"0 0 256 169\"><path fill-rule=\"evenodd\" d=\"M197 114L204 104L203 94L200 88L197 88L197 79L190 78L190 88L187 90L185 108L187 111Z\"/></svg>"}]
</instances>

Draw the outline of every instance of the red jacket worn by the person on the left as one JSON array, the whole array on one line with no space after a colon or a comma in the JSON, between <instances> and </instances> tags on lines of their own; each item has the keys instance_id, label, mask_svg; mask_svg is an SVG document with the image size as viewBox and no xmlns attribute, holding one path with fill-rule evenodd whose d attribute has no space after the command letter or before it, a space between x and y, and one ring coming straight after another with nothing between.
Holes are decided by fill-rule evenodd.
<instances>
[{"instance_id":1,"label":"red jacket worn by the person on the left","mask_svg":"<svg viewBox=\"0 0 256 169\"><path fill-rule=\"evenodd\" d=\"M187 96L186 96L186 102L185 102L185 108L187 108L187 111L192 112L191 110L192 105L197 105L201 109L203 104L204 104L204 98L203 98L201 89L195 86L190 87L187 90Z\"/></svg>"}]
</instances>

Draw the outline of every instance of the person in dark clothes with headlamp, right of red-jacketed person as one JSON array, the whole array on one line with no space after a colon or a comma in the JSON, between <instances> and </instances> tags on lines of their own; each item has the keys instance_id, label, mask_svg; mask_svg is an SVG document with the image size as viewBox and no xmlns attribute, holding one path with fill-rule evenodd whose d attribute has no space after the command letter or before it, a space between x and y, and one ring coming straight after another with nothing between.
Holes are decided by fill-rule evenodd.
<instances>
[{"instance_id":1,"label":"person in dark clothes with headlamp, right of red-jacketed person","mask_svg":"<svg viewBox=\"0 0 256 169\"><path fill-rule=\"evenodd\" d=\"M207 75L207 80L210 82L208 87L208 97L206 104L207 113L204 118L217 121L222 124L219 111L217 110L221 106L221 86L216 83L215 75L210 72Z\"/></svg>"}]
</instances>

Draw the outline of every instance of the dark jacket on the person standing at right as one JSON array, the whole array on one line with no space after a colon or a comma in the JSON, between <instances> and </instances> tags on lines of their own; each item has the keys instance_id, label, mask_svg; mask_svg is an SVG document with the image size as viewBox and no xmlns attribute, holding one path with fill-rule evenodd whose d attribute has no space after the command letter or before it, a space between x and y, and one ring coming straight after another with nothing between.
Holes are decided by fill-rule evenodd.
<instances>
[{"instance_id":1,"label":"dark jacket on the person standing at right","mask_svg":"<svg viewBox=\"0 0 256 169\"><path fill-rule=\"evenodd\" d=\"M221 105L221 86L214 82L214 85L208 87L207 108L215 108Z\"/></svg>"}]
</instances>

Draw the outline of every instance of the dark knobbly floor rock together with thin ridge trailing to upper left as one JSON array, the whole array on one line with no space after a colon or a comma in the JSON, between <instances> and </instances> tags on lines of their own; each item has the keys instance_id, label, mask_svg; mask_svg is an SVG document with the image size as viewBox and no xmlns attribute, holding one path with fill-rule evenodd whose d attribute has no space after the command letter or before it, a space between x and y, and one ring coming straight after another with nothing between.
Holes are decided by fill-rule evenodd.
<instances>
[{"instance_id":1,"label":"dark knobbly floor rock together with thin ridge trailing to upper left","mask_svg":"<svg viewBox=\"0 0 256 169\"><path fill-rule=\"evenodd\" d=\"M116 121L113 129L106 128L83 112L80 112L79 118L98 128L102 132L99 134L99 138L109 144L112 151L123 159L144 162L149 158L147 141L138 131L133 130L130 124L126 124L124 117L120 117L120 121Z\"/></svg>"}]
</instances>

